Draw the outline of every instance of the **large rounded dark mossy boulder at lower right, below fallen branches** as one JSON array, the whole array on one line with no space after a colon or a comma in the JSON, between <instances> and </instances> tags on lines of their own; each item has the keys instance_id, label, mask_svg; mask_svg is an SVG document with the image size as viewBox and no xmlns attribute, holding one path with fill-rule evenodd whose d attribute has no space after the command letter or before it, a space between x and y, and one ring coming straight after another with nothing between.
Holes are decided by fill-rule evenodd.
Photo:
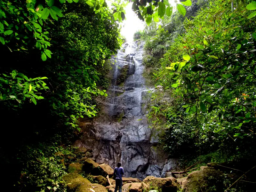
<instances>
[{"instance_id":1,"label":"large rounded dark mossy boulder at lower right, below fallen branches","mask_svg":"<svg viewBox=\"0 0 256 192\"><path fill-rule=\"evenodd\" d=\"M223 191L223 173L213 168L194 171L182 181L181 186L185 192Z\"/></svg>"}]
</instances>

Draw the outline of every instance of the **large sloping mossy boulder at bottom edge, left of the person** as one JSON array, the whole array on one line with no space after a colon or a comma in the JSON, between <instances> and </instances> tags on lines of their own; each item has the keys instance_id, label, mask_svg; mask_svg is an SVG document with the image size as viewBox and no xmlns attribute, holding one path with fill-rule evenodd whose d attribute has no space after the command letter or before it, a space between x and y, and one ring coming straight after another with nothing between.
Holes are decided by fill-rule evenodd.
<instances>
[{"instance_id":1,"label":"large sloping mossy boulder at bottom edge, left of the person","mask_svg":"<svg viewBox=\"0 0 256 192\"><path fill-rule=\"evenodd\" d=\"M102 185L91 183L77 173L65 175L63 180L68 184L68 189L71 192L107 192Z\"/></svg>"}]
</instances>

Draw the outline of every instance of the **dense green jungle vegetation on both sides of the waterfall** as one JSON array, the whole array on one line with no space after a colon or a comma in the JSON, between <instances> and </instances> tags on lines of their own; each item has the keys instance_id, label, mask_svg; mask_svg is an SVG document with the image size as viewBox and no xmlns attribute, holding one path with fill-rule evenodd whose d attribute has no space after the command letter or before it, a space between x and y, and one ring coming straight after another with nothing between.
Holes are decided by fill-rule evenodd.
<instances>
[{"instance_id":1,"label":"dense green jungle vegetation on both sides of the waterfall","mask_svg":"<svg viewBox=\"0 0 256 192\"><path fill-rule=\"evenodd\" d=\"M104 0L0 2L0 159L9 190L67 190L61 156L75 156L79 120L96 116L95 98L107 96L107 60L124 42L129 2L112 10ZM255 2L130 2L148 24L134 35L146 41L145 75L175 98L148 115L164 126L170 155L255 160Z\"/></svg>"}]
</instances>

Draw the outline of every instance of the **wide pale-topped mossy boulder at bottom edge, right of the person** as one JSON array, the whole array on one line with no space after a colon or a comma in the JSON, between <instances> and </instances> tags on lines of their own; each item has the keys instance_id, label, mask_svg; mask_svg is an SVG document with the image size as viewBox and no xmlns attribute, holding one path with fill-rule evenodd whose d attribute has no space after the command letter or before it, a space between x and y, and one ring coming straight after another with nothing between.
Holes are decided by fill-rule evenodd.
<instances>
[{"instance_id":1,"label":"wide pale-topped mossy boulder at bottom edge, right of the person","mask_svg":"<svg viewBox=\"0 0 256 192\"><path fill-rule=\"evenodd\" d=\"M176 192L178 188L178 183L175 178L156 178L154 176L146 177L138 190L138 192L143 192L144 190L149 191L155 189L162 192Z\"/></svg>"}]
</instances>

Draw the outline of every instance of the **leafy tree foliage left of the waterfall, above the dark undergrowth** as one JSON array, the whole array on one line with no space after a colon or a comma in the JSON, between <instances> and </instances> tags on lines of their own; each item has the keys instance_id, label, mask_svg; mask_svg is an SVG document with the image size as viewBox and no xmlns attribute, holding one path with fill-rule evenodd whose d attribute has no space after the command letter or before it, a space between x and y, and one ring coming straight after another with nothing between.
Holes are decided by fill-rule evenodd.
<instances>
[{"instance_id":1,"label":"leafy tree foliage left of the waterfall, above the dark undergrowth","mask_svg":"<svg viewBox=\"0 0 256 192\"><path fill-rule=\"evenodd\" d=\"M25 6L20 1L1 2L0 22L5 23L6 32L2 35L7 45L3 45L2 53L10 58L9 65L1 70L12 71L11 76L3 75L0 79L1 107L20 107L25 101L49 102L46 105L51 106L51 114L79 130L78 117L93 117L97 113L92 99L97 95L107 96L96 82L100 80L99 71L104 68L105 60L116 52L122 40L106 6L95 14L83 1L62 3L29 1ZM10 30L14 32L11 34ZM50 46L52 51L48 49ZM40 57L44 62L38 61ZM24 65L18 65L17 58ZM32 78L28 79L30 74ZM47 81L42 81L46 78Z\"/></svg>"}]
</instances>

